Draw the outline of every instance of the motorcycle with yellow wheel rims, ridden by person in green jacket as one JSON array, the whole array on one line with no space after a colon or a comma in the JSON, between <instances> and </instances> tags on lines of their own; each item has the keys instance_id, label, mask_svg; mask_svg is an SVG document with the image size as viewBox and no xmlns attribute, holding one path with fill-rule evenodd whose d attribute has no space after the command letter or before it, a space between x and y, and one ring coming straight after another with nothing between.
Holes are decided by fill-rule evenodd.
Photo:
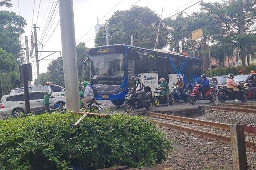
<instances>
[{"instance_id":1,"label":"motorcycle with yellow wheel rims, ridden by person in green jacket","mask_svg":"<svg viewBox=\"0 0 256 170\"><path fill-rule=\"evenodd\" d=\"M167 103L166 96L165 96L165 90L163 87L157 87L154 90L154 105L158 107L160 104ZM169 104L174 104L174 96L170 96L169 93Z\"/></svg>"}]
</instances>

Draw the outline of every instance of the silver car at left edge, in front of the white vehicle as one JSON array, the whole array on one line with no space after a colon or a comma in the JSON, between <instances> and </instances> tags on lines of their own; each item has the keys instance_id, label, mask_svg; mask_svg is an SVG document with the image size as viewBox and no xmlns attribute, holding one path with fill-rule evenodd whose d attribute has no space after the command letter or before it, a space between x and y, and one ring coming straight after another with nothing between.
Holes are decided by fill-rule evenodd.
<instances>
[{"instance_id":1,"label":"silver car at left edge, in front of the white vehicle","mask_svg":"<svg viewBox=\"0 0 256 170\"><path fill-rule=\"evenodd\" d=\"M54 109L55 105L63 107L66 104L65 97L50 96L49 108ZM44 92L29 92L29 103L31 113L42 113L45 110ZM0 102L0 115L20 116L25 111L24 93L4 95Z\"/></svg>"}]
</instances>

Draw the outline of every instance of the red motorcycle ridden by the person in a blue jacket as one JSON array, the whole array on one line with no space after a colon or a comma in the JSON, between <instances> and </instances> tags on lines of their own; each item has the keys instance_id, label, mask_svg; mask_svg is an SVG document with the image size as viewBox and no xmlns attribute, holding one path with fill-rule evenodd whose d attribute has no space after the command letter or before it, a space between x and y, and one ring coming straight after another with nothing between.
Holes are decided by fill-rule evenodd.
<instances>
[{"instance_id":1,"label":"red motorcycle ridden by the person in a blue jacket","mask_svg":"<svg viewBox=\"0 0 256 170\"><path fill-rule=\"evenodd\" d=\"M213 87L211 87L206 93L205 97L201 98L200 94L200 88L202 86L200 84L196 84L195 87L193 88L193 91L190 94L189 97L189 103L190 104L195 104L197 100L209 100L210 102L215 102L217 99L217 96L213 93Z\"/></svg>"}]
</instances>

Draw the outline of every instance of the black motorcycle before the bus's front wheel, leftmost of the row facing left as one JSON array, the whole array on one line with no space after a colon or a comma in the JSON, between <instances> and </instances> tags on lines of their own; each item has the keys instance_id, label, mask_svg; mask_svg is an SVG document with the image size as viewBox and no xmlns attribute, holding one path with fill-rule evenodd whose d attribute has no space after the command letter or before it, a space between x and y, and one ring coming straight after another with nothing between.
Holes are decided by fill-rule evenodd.
<instances>
[{"instance_id":1,"label":"black motorcycle before the bus's front wheel, leftmost of the row facing left","mask_svg":"<svg viewBox=\"0 0 256 170\"><path fill-rule=\"evenodd\" d=\"M143 97L144 106L146 109L151 109L153 103L151 101L151 92L147 92ZM127 113L130 113L133 109L140 109L141 105L138 105L138 96L133 90L131 90L127 95L125 95L124 110Z\"/></svg>"}]
</instances>

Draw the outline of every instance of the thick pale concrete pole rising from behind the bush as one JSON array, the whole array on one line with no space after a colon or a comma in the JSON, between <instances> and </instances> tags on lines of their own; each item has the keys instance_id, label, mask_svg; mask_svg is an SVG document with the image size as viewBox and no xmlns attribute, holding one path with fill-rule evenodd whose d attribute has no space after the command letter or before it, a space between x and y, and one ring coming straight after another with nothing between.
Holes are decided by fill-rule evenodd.
<instances>
[{"instance_id":1,"label":"thick pale concrete pole rising from behind the bush","mask_svg":"<svg viewBox=\"0 0 256 170\"><path fill-rule=\"evenodd\" d=\"M67 109L71 111L79 111L80 104L73 0L59 1L59 14Z\"/></svg>"}]
</instances>

